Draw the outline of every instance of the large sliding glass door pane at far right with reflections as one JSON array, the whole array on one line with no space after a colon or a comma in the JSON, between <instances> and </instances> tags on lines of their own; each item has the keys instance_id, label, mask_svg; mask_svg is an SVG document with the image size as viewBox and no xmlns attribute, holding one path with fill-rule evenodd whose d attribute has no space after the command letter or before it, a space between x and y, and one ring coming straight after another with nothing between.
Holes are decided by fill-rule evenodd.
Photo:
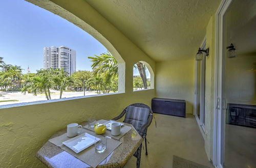
<instances>
[{"instance_id":1,"label":"large sliding glass door pane at far right with reflections","mask_svg":"<svg viewBox=\"0 0 256 168\"><path fill-rule=\"evenodd\" d=\"M224 15L222 166L256 167L256 1Z\"/></svg>"}]
</instances>

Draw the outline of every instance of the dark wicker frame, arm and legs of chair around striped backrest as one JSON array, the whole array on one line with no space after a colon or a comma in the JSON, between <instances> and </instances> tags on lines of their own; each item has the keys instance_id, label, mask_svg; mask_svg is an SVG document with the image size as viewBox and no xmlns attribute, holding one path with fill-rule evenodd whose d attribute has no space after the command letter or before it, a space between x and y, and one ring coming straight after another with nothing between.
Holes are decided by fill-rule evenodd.
<instances>
[{"instance_id":1,"label":"dark wicker frame, arm and legs of chair around striped backrest","mask_svg":"<svg viewBox=\"0 0 256 168\"><path fill-rule=\"evenodd\" d=\"M147 140L146 140L146 133L147 133L147 127L150 126L150 124L152 122L152 119L153 119L153 111L152 111L152 109L149 106L147 106L146 104L143 104L143 103L135 103L135 104L131 104L129 106L142 107L142 108L147 108L148 110L150 110L150 114L148 115L146 124L144 124L141 127L140 130L137 130L138 133L140 134L140 136L143 139L145 139L145 148L146 148L146 155L147 155L148 153L147 153L147 145L146 145L146 142L147 142ZM118 119L122 118L125 115L126 111L127 111L126 108L122 111L122 113L119 116L115 117L112 120L118 120ZM142 143L140 144L140 146L137 149L137 151L134 153L134 156L137 157L137 167L140 167L141 150L142 150Z\"/></svg>"}]
</instances>

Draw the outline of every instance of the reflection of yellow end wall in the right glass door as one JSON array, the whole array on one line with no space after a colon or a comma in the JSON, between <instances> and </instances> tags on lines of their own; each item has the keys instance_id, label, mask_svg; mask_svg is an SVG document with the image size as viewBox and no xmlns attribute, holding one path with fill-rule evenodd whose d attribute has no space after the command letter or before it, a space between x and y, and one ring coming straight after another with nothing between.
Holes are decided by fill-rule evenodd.
<instances>
[{"instance_id":1,"label":"reflection of yellow end wall in the right glass door","mask_svg":"<svg viewBox=\"0 0 256 168\"><path fill-rule=\"evenodd\" d=\"M228 103L256 104L256 53L225 58L224 97ZM254 63L256 64L256 63Z\"/></svg>"}]
</instances>

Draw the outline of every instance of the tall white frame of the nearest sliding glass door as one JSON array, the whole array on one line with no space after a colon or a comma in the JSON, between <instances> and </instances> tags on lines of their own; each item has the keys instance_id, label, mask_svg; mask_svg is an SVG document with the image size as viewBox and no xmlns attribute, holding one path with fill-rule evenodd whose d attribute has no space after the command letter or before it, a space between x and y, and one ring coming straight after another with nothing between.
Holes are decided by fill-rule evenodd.
<instances>
[{"instance_id":1,"label":"tall white frame of the nearest sliding glass door","mask_svg":"<svg viewBox=\"0 0 256 168\"><path fill-rule=\"evenodd\" d=\"M216 59L215 59L215 113L214 113L214 146L212 162L215 167L223 167L225 134L222 126L225 114L222 113L223 105L223 29L224 14L233 0L223 0L216 13ZM225 106L225 105L224 105ZM224 107L225 108L225 107Z\"/></svg>"}]
</instances>

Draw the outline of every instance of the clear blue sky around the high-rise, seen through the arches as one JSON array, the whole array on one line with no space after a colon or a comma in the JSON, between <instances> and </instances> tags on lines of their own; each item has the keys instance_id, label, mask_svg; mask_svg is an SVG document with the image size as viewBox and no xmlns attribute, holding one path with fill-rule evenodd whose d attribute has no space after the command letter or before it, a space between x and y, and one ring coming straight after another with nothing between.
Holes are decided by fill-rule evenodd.
<instances>
[{"instance_id":1,"label":"clear blue sky around the high-rise, seen through the arches","mask_svg":"<svg viewBox=\"0 0 256 168\"><path fill-rule=\"evenodd\" d=\"M31 72L43 68L44 47L65 45L76 50L76 70L91 70L88 57L107 50L68 20L23 0L1 0L0 23L0 57L22 66L23 73L28 66Z\"/></svg>"}]
</instances>

